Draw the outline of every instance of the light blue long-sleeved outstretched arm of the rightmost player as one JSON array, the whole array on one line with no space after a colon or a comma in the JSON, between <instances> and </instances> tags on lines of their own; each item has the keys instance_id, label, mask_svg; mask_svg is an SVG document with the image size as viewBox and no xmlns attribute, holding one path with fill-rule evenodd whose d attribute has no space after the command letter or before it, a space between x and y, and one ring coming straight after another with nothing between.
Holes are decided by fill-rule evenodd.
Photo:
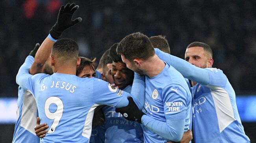
<instances>
[{"instance_id":1,"label":"light blue long-sleeved outstretched arm of the rightmost player","mask_svg":"<svg viewBox=\"0 0 256 143\"><path fill-rule=\"evenodd\" d=\"M155 52L161 60L173 66L184 76L184 78L201 83L202 85L208 85L210 83L210 76L206 69L196 67L181 58L162 52L156 48Z\"/></svg>"}]
</instances>

